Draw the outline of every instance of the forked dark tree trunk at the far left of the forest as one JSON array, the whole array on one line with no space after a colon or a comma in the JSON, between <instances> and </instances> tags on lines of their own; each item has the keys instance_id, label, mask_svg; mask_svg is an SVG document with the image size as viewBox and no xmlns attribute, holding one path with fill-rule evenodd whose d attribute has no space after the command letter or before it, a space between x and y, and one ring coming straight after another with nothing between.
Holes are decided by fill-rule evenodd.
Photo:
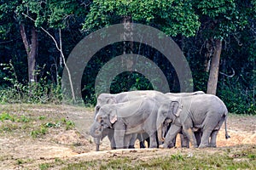
<instances>
[{"instance_id":1,"label":"forked dark tree trunk at the far left of the forest","mask_svg":"<svg viewBox=\"0 0 256 170\"><path fill-rule=\"evenodd\" d=\"M34 26L32 26L31 30L31 43L29 43L26 37L26 31L24 24L20 24L20 35L22 37L22 41L26 48L27 54L27 65L28 65L28 80L29 82L37 82L37 77L35 75L36 69L36 57L37 57L37 49L38 49L38 34Z\"/></svg>"}]
</instances>

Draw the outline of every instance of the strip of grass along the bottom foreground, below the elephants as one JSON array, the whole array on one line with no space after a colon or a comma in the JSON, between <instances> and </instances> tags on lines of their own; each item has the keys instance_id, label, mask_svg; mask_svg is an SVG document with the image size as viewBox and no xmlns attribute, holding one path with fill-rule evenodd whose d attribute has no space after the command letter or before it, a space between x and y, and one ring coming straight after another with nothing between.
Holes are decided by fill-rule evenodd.
<instances>
[{"instance_id":1,"label":"strip of grass along the bottom foreground, below the elephants","mask_svg":"<svg viewBox=\"0 0 256 170\"><path fill-rule=\"evenodd\" d=\"M256 167L255 153L251 151L241 159L225 154L198 153L186 156L182 153L172 156L152 158L147 161L129 157L102 161L81 161L67 164L67 169L254 169ZM249 158L248 158L249 157ZM253 159L253 160L250 160Z\"/></svg>"}]
</instances>

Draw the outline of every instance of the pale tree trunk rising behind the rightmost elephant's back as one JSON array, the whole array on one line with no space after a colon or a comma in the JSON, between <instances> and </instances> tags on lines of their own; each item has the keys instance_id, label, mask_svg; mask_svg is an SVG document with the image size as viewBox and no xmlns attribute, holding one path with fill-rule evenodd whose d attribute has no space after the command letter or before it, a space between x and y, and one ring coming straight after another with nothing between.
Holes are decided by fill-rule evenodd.
<instances>
[{"instance_id":1,"label":"pale tree trunk rising behind the rightmost elephant's back","mask_svg":"<svg viewBox=\"0 0 256 170\"><path fill-rule=\"evenodd\" d=\"M217 39L215 41L215 50L212 55L212 62L210 68L210 75L207 84L207 94L216 94L217 92L217 83L218 83L218 68L219 68L219 59L222 49L222 41Z\"/></svg>"}]
</instances>

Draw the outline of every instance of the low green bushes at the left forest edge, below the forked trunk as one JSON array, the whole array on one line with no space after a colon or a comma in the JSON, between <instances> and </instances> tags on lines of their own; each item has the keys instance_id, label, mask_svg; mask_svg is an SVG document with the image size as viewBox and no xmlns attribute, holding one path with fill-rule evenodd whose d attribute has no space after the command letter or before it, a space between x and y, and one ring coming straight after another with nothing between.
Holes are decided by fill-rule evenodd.
<instances>
[{"instance_id":1,"label":"low green bushes at the left forest edge, below the forked trunk","mask_svg":"<svg viewBox=\"0 0 256 170\"><path fill-rule=\"evenodd\" d=\"M9 77L4 77L4 80L10 83L10 87L0 88L1 103L61 103L61 77L57 77L58 84L56 85L49 82L47 77L40 77L38 82L26 85L18 81L15 67L11 61L9 64L1 65L3 70L10 75ZM38 74L39 72L40 70L38 70Z\"/></svg>"}]
</instances>

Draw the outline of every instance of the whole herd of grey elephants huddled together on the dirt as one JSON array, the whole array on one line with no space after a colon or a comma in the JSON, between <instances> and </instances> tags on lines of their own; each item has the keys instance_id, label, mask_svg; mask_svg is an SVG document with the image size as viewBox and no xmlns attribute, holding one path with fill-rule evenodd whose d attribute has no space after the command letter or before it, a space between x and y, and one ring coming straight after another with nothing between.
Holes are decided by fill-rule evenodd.
<instances>
[{"instance_id":1,"label":"whole herd of grey elephants huddled together on the dirt","mask_svg":"<svg viewBox=\"0 0 256 170\"><path fill-rule=\"evenodd\" d=\"M228 110L217 96L194 93L163 94L154 90L100 94L90 135L99 150L108 136L112 149L134 148L135 141L148 139L149 148L172 148L177 133L182 147L216 147L217 134Z\"/></svg>"}]
</instances>

